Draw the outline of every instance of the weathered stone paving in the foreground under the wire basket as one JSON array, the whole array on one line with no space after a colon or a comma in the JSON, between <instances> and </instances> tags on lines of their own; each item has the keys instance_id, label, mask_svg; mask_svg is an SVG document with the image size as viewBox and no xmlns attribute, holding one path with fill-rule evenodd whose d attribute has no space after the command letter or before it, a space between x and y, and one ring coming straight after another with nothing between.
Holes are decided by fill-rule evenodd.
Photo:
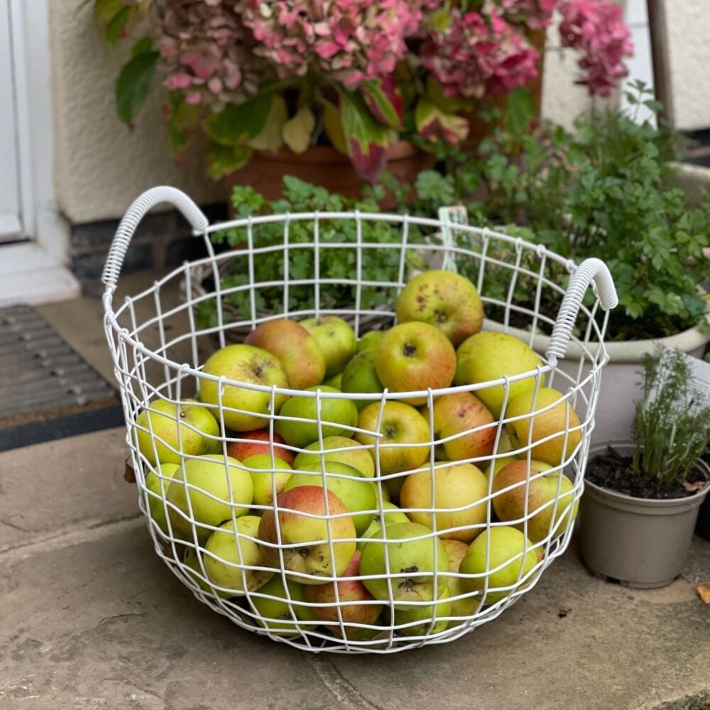
<instances>
[{"instance_id":1,"label":"weathered stone paving in the foreground under the wire basket","mask_svg":"<svg viewBox=\"0 0 710 710\"><path fill-rule=\"evenodd\" d=\"M0 710L640 710L710 690L710 613L691 582L613 586L574 550L461 640L343 657L232 626L155 557L142 520L67 541L0 555ZM697 540L688 574L708 570Z\"/></svg>"}]
</instances>

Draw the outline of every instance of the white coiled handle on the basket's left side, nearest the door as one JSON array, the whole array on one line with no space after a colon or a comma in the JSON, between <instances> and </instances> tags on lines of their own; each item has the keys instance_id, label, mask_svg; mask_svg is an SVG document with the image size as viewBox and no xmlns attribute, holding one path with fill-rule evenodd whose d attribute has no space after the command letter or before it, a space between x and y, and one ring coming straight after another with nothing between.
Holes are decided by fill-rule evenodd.
<instances>
[{"instance_id":1,"label":"white coiled handle on the basket's left side, nearest the door","mask_svg":"<svg viewBox=\"0 0 710 710\"><path fill-rule=\"evenodd\" d=\"M146 190L141 197L138 197L138 199L131 204L128 212L126 212L124 218L121 219L119 229L116 230L116 236L114 236L114 241L111 244L106 266L104 266L104 273L101 277L102 282L106 285L107 291L113 292L116 288L116 283L121 273L121 266L123 266L126 251L128 251L129 244L131 244L131 237L133 236L133 232L136 231L138 222L143 219L146 212L148 212L151 207L155 207L155 205L160 204L160 202L170 202L175 205L175 207L182 212L182 216L187 219L187 222L190 222L195 234L200 234L209 226L209 221L207 217L202 214L200 207L197 207L197 204L192 202L190 197L187 197L182 190L165 185Z\"/></svg>"}]
</instances>

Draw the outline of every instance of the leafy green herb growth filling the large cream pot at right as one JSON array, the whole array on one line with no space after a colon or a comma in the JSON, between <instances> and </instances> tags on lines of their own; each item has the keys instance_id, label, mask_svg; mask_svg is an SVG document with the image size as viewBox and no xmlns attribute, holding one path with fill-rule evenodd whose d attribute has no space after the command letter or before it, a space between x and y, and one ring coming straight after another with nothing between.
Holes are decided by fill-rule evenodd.
<instances>
[{"instance_id":1,"label":"leafy green herb growth filling the large cream pot at right","mask_svg":"<svg viewBox=\"0 0 710 710\"><path fill-rule=\"evenodd\" d=\"M646 96L635 86L633 111L657 109ZM562 256L606 261L620 303L611 338L664 337L706 327L697 286L709 272L702 250L710 246L710 202L689 206L671 186L677 147L675 136L633 116L592 113L574 133L499 132L481 141L476 160L452 161L448 179L477 224L527 226ZM425 195L418 207L431 202ZM550 317L557 302L547 304Z\"/></svg>"}]
</instances>

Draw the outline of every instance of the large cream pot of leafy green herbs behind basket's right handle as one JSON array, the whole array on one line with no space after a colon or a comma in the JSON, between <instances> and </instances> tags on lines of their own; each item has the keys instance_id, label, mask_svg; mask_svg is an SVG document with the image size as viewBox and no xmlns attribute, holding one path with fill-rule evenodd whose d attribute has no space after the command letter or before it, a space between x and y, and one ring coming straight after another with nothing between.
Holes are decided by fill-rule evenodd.
<instances>
[{"instance_id":1,"label":"large cream pot of leafy green herbs behind basket's right handle","mask_svg":"<svg viewBox=\"0 0 710 710\"><path fill-rule=\"evenodd\" d=\"M636 106L658 109L643 84L629 98ZM476 158L450 158L447 175L420 178L427 183L426 202L417 202L424 212L442 199L462 202L471 224L508 225L502 229L574 261L596 256L606 262L619 307L608 320L610 362L599 400L605 416L599 417L594 441L630 434L638 398L635 372L656 342L700 356L709 337L702 285L710 273L704 256L710 246L710 202L692 202L676 186L676 153L674 134L638 123L633 112L593 112L577 120L574 133L560 126L542 126L528 136L499 132L481 143ZM533 310L535 253L523 253L520 266L530 273L518 274L515 302ZM548 263L546 269L553 281L564 279L564 264ZM508 288L510 271L486 269L486 294L505 300ZM548 321L535 322L534 345L544 353L562 295L547 288L541 295L540 312ZM489 327L503 322L503 314L487 313ZM582 337L584 322L577 325L575 334ZM531 326L525 314L510 314L512 332ZM582 354L570 344L562 368L573 371Z\"/></svg>"}]
</instances>

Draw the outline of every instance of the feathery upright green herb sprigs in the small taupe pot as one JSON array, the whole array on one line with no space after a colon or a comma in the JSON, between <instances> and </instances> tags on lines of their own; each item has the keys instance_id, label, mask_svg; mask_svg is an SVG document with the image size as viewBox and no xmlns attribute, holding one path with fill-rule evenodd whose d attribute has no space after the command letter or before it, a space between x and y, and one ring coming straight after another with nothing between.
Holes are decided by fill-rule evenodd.
<instances>
[{"instance_id":1,"label":"feathery upright green herb sprigs in the small taupe pot","mask_svg":"<svg viewBox=\"0 0 710 710\"><path fill-rule=\"evenodd\" d=\"M633 471L664 486L682 484L710 443L710 403L681 351L643 359L643 399L633 421Z\"/></svg>"}]
</instances>

